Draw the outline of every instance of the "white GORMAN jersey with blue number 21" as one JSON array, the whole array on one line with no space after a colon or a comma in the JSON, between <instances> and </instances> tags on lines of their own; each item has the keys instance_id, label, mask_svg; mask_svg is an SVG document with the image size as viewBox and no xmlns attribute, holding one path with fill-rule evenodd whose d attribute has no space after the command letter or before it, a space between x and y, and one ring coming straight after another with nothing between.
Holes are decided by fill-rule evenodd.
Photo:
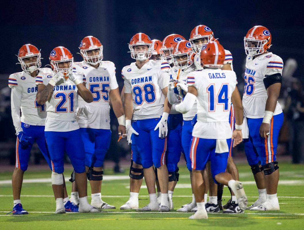
<instances>
[{"instance_id":1,"label":"white GORMAN jersey with blue number 21","mask_svg":"<svg viewBox=\"0 0 304 230\"><path fill-rule=\"evenodd\" d=\"M73 73L81 82L85 82L82 73ZM39 74L36 84L47 85L54 76ZM44 131L67 132L79 129L76 121L78 111L78 89L70 79L64 78L54 86L50 99L47 100L47 118Z\"/></svg>"}]
</instances>

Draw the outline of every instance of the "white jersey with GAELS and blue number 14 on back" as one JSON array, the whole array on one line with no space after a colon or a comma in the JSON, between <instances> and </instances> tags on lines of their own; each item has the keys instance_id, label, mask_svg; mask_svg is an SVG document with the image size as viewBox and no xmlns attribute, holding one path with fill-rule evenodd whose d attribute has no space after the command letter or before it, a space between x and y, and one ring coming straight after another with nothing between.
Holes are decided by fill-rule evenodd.
<instances>
[{"instance_id":1,"label":"white jersey with GAELS and blue number 14 on back","mask_svg":"<svg viewBox=\"0 0 304 230\"><path fill-rule=\"evenodd\" d=\"M229 124L231 95L237 85L234 71L204 69L187 76L188 86L195 86L197 96L197 123L192 136L206 139L232 137Z\"/></svg>"}]
</instances>

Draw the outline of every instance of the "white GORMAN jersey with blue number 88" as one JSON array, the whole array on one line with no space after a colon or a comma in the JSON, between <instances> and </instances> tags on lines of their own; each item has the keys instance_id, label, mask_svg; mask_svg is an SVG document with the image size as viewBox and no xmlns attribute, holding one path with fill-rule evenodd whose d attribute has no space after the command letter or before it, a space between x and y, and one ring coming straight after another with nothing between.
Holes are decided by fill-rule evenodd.
<instances>
[{"instance_id":1,"label":"white GORMAN jersey with blue number 88","mask_svg":"<svg viewBox=\"0 0 304 230\"><path fill-rule=\"evenodd\" d=\"M163 60L149 60L141 69L135 62L123 68L125 93L133 97L134 120L161 117L165 100L162 89L168 87L169 70L170 65Z\"/></svg>"}]
</instances>

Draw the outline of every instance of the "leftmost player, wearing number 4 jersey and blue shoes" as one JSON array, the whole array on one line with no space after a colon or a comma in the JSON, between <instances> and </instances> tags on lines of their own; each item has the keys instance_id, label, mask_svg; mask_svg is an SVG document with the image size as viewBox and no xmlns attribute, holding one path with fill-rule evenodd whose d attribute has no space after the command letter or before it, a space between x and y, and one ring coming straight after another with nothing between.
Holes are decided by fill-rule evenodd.
<instances>
[{"instance_id":1,"label":"leftmost player, wearing number 4 jersey and blue shoes","mask_svg":"<svg viewBox=\"0 0 304 230\"><path fill-rule=\"evenodd\" d=\"M28 167L29 155L33 143L36 141L40 151L51 168L50 155L44 137L44 123L47 116L46 105L36 102L36 77L40 74L51 74L50 68L41 67L40 51L31 44L23 45L19 49L18 61L22 72L9 76L9 87L11 92L11 109L13 123L16 129L16 168L12 177L12 188L14 196L13 214L28 214L22 208L20 193L23 174ZM20 117L21 109L21 117ZM77 212L78 207L69 201L67 190L64 186L65 211Z\"/></svg>"}]
</instances>

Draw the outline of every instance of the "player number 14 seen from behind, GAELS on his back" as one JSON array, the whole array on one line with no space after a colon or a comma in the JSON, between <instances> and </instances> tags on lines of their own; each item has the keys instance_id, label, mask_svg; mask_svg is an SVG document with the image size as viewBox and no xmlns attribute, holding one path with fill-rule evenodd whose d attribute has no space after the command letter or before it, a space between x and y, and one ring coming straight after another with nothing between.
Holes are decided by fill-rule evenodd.
<instances>
[{"instance_id":1,"label":"player number 14 seen from behind, GAELS on his back","mask_svg":"<svg viewBox=\"0 0 304 230\"><path fill-rule=\"evenodd\" d=\"M242 183L233 179L226 171L229 146L231 145L231 127L229 113L231 98L237 90L236 74L221 70L225 59L224 48L218 42L210 42L202 47L201 65L204 70L188 74L188 92L183 102L175 106L176 110L186 113L197 100L197 123L192 132L190 158L192 180L197 212L190 219L207 219L204 202L205 183L203 170L208 159L211 161L211 173L214 182L229 186L237 196L242 210L247 207L247 197ZM240 98L238 98L240 100ZM238 117L237 128L241 128L242 119ZM233 132L234 145L242 141L242 132ZM198 153L198 154L197 154Z\"/></svg>"}]
</instances>

